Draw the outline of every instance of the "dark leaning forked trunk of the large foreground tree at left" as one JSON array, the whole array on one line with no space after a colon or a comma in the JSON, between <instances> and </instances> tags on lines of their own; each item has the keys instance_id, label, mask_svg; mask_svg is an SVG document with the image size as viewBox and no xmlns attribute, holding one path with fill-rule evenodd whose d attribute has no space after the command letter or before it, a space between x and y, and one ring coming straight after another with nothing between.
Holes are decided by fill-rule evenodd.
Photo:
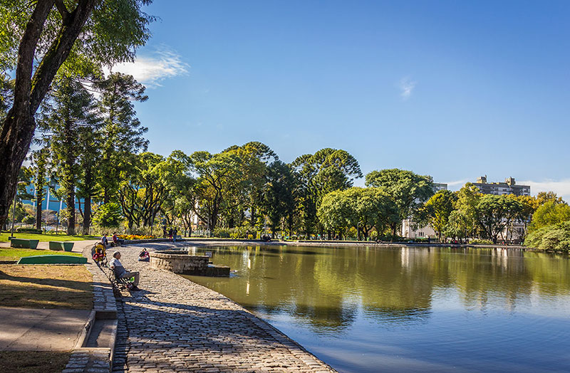
<instances>
[{"instance_id":1,"label":"dark leaning forked trunk of the large foreground tree at left","mask_svg":"<svg viewBox=\"0 0 570 373\"><path fill-rule=\"evenodd\" d=\"M33 73L36 46L54 2L55 0L36 1L18 49L14 105L6 115L0 132L0 226L8 218L20 167L36 129L33 115L98 1L79 1L76 9L63 18L58 35Z\"/></svg>"}]
</instances>

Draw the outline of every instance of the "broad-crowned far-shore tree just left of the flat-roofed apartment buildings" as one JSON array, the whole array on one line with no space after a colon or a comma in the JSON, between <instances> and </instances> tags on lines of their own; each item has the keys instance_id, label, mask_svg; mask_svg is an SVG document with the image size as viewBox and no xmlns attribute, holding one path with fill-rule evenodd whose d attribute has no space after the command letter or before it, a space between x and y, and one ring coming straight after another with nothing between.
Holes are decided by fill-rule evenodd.
<instances>
[{"instance_id":1,"label":"broad-crowned far-shore tree just left of the flat-roofed apartment buildings","mask_svg":"<svg viewBox=\"0 0 570 373\"><path fill-rule=\"evenodd\" d=\"M430 176L414 174L403 169L383 169L366 175L366 187L377 187L388 194L398 206L400 220L392 224L392 235L404 219L413 218L424 202L433 194Z\"/></svg>"}]
</instances>

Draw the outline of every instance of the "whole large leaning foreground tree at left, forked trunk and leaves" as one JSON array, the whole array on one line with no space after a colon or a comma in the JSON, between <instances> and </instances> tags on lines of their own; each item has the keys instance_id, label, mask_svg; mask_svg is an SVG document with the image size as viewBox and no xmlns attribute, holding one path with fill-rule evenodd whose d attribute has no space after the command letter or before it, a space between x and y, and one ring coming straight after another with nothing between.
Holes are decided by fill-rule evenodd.
<instances>
[{"instance_id":1,"label":"whole large leaning foreground tree at left, forked trunk and leaves","mask_svg":"<svg viewBox=\"0 0 570 373\"><path fill-rule=\"evenodd\" d=\"M36 129L34 115L61 65L98 70L132 61L150 34L150 0L3 1L0 68L16 70L14 101L0 131L0 226Z\"/></svg>"}]
</instances>

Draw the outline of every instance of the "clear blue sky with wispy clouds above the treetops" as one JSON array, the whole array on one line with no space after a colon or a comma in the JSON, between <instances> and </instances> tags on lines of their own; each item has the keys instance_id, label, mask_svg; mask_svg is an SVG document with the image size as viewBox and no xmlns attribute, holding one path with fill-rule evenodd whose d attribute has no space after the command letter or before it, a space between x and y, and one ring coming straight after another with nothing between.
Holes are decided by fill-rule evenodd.
<instances>
[{"instance_id":1,"label":"clear blue sky with wispy clouds above the treetops","mask_svg":"<svg viewBox=\"0 0 570 373\"><path fill-rule=\"evenodd\" d=\"M457 189L570 199L569 1L155 1L134 64L150 151L346 149ZM361 184L362 182L357 182Z\"/></svg>"}]
</instances>

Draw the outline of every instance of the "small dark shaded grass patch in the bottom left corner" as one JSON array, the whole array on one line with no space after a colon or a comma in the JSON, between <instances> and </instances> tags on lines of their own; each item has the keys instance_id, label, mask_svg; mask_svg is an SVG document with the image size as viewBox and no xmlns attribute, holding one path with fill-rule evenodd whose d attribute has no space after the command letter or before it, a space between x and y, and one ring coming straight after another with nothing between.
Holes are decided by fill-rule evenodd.
<instances>
[{"instance_id":1,"label":"small dark shaded grass patch in the bottom left corner","mask_svg":"<svg viewBox=\"0 0 570 373\"><path fill-rule=\"evenodd\" d=\"M71 352L0 351L0 372L60 373Z\"/></svg>"}]
</instances>

